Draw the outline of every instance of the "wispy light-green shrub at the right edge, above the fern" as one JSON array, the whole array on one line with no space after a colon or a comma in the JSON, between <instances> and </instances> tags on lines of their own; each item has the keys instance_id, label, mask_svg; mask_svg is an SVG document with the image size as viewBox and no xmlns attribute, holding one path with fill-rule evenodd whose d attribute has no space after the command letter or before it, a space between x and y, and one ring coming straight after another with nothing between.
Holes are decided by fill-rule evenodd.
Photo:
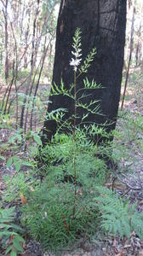
<instances>
[{"instance_id":1,"label":"wispy light-green shrub at the right edge, above the fern","mask_svg":"<svg viewBox=\"0 0 143 256\"><path fill-rule=\"evenodd\" d=\"M119 113L119 130L113 131L115 140L113 157L117 160L124 159L139 163L138 154L143 152L143 117L140 113L125 112Z\"/></svg>"}]
</instances>

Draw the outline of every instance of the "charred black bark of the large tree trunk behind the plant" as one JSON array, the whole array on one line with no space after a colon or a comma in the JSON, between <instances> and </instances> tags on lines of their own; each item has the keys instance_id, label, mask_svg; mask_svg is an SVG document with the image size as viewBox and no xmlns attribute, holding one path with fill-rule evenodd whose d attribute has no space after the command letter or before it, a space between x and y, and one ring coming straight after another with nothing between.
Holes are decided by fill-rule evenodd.
<instances>
[{"instance_id":1,"label":"charred black bark of the large tree trunk behind the plant","mask_svg":"<svg viewBox=\"0 0 143 256\"><path fill-rule=\"evenodd\" d=\"M76 28L82 30L83 60L89 51L97 49L94 61L89 67L88 78L102 84L104 89L95 90L88 101L100 100L103 116L89 115L87 121L112 124L108 131L115 128L120 89L123 73L123 55L126 26L126 0L62 0L57 25L56 46L54 57L53 81L60 85L63 79L66 88L73 82L73 69L69 65L72 59L72 37ZM77 87L83 87L83 78L77 81ZM73 113L73 102L66 96L50 96L48 111L67 108L66 118ZM82 115L81 109L78 115ZM43 134L50 141L56 131L54 121L46 120ZM43 143L45 139L43 139Z\"/></svg>"}]
</instances>

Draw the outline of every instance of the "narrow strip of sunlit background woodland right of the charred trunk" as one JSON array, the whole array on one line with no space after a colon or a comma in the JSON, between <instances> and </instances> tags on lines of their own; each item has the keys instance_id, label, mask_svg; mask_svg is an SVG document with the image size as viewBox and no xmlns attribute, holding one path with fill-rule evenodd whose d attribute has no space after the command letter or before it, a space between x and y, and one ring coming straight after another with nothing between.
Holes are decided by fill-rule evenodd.
<instances>
[{"instance_id":1,"label":"narrow strip of sunlit background woodland right of the charred trunk","mask_svg":"<svg viewBox=\"0 0 143 256\"><path fill-rule=\"evenodd\" d=\"M124 103L126 103L126 96L128 97L133 93L135 86L135 100L139 105L142 105L142 10L143 3L140 0L129 1L127 5L127 29L126 29L126 45L124 55L124 69L123 69L123 90L122 90L122 104L123 109ZM134 77L133 88L128 89L130 79ZM130 91L130 92L129 92Z\"/></svg>"}]
</instances>

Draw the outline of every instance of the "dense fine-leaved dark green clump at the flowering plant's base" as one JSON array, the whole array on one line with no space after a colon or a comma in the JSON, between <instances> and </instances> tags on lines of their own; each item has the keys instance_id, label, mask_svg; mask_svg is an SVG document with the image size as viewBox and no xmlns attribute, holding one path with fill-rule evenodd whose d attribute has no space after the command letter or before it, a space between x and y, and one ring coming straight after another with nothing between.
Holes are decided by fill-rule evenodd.
<instances>
[{"instance_id":1,"label":"dense fine-leaved dark green clump at the flowering plant's base","mask_svg":"<svg viewBox=\"0 0 143 256\"><path fill-rule=\"evenodd\" d=\"M31 236L43 247L57 249L72 245L79 236L96 229L96 214L84 195L77 195L77 211L73 218L74 186L70 183L49 183L31 193L31 201L23 208L23 221ZM88 230L89 229L89 230Z\"/></svg>"}]
</instances>

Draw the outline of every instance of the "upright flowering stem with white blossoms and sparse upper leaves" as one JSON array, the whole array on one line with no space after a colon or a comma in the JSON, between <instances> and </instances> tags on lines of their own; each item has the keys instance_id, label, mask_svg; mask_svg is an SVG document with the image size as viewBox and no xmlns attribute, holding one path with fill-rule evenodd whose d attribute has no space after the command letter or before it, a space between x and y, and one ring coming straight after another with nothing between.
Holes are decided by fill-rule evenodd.
<instances>
[{"instance_id":1,"label":"upright flowering stem with white blossoms and sparse upper leaves","mask_svg":"<svg viewBox=\"0 0 143 256\"><path fill-rule=\"evenodd\" d=\"M74 191L74 207L73 207L73 218L75 218L75 211L76 211L76 197L77 197L77 167L76 167L76 131L78 129L77 127L77 108L83 108L87 110L88 113L83 116L83 119L85 119L88 115L89 112L97 114L99 110L99 106L97 106L97 101L90 102L89 104L83 104L81 101L85 95L83 95L80 98L77 98L77 79L82 73L87 73L88 68L90 67L91 62L94 60L94 55L96 54L96 49L92 49L85 61L83 61L82 67L79 68L80 63L82 61L82 49L81 49L81 30L77 28L75 35L73 37L73 44L72 44L72 61L70 61L70 65L73 67L73 72L74 72L74 79L73 79L73 84L71 85L71 91L65 91L65 94L70 96L74 100L74 114L72 115L73 119L73 125L72 125L72 138L73 138L73 170L74 170L74 185L75 185L75 191ZM92 83L89 83L89 79L86 78L83 80L84 87L83 89L97 89L100 86L98 86L94 80ZM57 86L54 84L55 88L52 86L52 93L64 93L64 84L61 84L61 90L57 88ZM73 89L73 94L72 94L72 89ZM80 90L80 89L79 89ZM86 96L87 97L87 96ZM96 105L96 107L93 107ZM66 124L67 125L67 122ZM68 124L69 126L69 124ZM86 128L86 127L85 127Z\"/></svg>"}]
</instances>

